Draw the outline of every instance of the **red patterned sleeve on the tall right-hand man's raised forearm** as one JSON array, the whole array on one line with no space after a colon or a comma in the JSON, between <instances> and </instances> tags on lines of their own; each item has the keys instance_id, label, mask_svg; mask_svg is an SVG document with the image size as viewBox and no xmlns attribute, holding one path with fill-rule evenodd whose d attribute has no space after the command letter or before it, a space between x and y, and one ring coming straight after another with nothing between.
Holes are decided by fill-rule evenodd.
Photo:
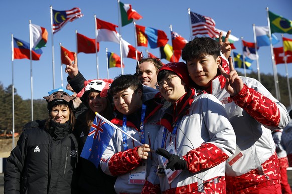
<instances>
[{"instance_id":1,"label":"red patterned sleeve on the tall right-hand man's raised forearm","mask_svg":"<svg viewBox=\"0 0 292 194\"><path fill-rule=\"evenodd\" d=\"M277 104L247 85L244 84L242 90L232 99L259 123L267 126L279 125L280 110Z\"/></svg>"}]
</instances>

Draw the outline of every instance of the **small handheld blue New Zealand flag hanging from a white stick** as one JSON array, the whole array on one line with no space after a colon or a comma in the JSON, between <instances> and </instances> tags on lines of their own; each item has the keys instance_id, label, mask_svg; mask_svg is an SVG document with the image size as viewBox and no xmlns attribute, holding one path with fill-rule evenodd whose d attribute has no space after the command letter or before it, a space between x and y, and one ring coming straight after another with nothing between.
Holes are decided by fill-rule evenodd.
<instances>
[{"instance_id":1,"label":"small handheld blue New Zealand flag hanging from a white stick","mask_svg":"<svg viewBox=\"0 0 292 194\"><path fill-rule=\"evenodd\" d=\"M108 123L96 116L80 156L94 163L97 168L114 130Z\"/></svg>"}]
</instances>

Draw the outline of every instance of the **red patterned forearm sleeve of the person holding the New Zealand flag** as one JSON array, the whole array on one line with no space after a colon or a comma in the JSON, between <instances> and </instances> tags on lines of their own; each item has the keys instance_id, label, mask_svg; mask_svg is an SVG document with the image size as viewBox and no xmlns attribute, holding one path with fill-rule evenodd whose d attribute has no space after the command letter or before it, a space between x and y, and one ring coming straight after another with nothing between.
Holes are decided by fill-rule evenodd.
<instances>
[{"instance_id":1,"label":"red patterned forearm sleeve of the person holding the New Zealand flag","mask_svg":"<svg viewBox=\"0 0 292 194\"><path fill-rule=\"evenodd\" d=\"M137 146L133 149L128 149L114 154L108 162L110 173L113 176L118 176L139 166L143 161L143 159L139 158L137 152L139 147L140 146Z\"/></svg>"}]
</instances>

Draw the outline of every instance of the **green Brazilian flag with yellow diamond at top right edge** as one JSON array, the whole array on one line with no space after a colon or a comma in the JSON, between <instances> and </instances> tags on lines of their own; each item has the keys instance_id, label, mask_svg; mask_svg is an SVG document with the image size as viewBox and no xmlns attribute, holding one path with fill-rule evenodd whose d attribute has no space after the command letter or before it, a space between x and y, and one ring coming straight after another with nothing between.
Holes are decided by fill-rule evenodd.
<instances>
[{"instance_id":1,"label":"green Brazilian flag with yellow diamond at top right edge","mask_svg":"<svg viewBox=\"0 0 292 194\"><path fill-rule=\"evenodd\" d=\"M269 11L271 33L292 34L292 21Z\"/></svg>"}]
</instances>

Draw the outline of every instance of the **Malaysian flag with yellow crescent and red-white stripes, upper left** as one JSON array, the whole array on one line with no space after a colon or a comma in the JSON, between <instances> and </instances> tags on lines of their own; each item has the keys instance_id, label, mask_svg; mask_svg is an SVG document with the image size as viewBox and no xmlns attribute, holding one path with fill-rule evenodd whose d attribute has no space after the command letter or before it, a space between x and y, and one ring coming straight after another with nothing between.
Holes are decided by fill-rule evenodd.
<instances>
[{"instance_id":1,"label":"Malaysian flag with yellow crescent and red-white stripes, upper left","mask_svg":"<svg viewBox=\"0 0 292 194\"><path fill-rule=\"evenodd\" d=\"M73 8L69 11L56 11L54 9L52 14L52 25L53 25L53 33L60 31L61 28L68 23L72 22L77 18L83 17L80 8Z\"/></svg>"}]
</instances>

